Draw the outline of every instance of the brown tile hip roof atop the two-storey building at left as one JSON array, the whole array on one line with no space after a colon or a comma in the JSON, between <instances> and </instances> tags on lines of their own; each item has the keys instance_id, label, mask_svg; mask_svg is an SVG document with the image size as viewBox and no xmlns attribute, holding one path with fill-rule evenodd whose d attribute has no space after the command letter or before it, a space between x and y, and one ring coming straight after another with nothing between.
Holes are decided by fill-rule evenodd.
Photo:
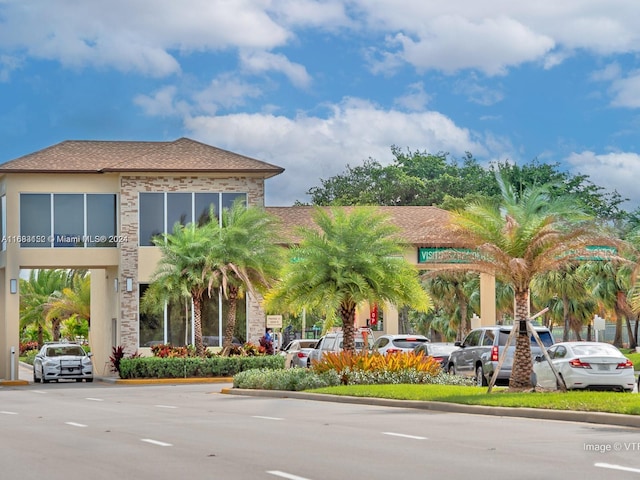
<instances>
[{"instance_id":1,"label":"brown tile hip roof atop the two-storey building at left","mask_svg":"<svg viewBox=\"0 0 640 480\"><path fill-rule=\"evenodd\" d=\"M67 140L0 165L2 173L207 172L258 173L283 168L180 138L172 142Z\"/></svg>"}]
</instances>

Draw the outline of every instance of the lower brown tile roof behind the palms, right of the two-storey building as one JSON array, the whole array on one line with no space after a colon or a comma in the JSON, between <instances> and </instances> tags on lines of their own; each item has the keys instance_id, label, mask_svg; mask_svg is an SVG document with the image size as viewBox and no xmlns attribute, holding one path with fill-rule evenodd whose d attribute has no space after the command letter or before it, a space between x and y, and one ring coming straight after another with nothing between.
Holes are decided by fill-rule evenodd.
<instances>
[{"instance_id":1,"label":"lower brown tile roof behind the palms, right of the two-storey building","mask_svg":"<svg viewBox=\"0 0 640 480\"><path fill-rule=\"evenodd\" d=\"M267 212L280 218L285 237L292 243L300 240L298 226L313 227L313 206L267 207ZM328 208L328 207L327 207ZM352 209L355 207L339 207ZM449 230L449 212L438 207L376 207L400 227L402 239L415 246L457 246Z\"/></svg>"}]
</instances>

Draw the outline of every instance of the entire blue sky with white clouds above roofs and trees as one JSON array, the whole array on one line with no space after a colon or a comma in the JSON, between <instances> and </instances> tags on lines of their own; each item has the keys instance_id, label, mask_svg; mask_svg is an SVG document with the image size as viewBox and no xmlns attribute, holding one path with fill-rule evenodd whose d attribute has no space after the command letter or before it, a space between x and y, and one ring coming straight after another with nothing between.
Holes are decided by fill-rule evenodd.
<instances>
[{"instance_id":1,"label":"entire blue sky with white clouds above roofs and trees","mask_svg":"<svg viewBox=\"0 0 640 480\"><path fill-rule=\"evenodd\" d=\"M0 0L0 162L189 137L284 167L559 162L640 206L636 0Z\"/></svg>"}]
</instances>

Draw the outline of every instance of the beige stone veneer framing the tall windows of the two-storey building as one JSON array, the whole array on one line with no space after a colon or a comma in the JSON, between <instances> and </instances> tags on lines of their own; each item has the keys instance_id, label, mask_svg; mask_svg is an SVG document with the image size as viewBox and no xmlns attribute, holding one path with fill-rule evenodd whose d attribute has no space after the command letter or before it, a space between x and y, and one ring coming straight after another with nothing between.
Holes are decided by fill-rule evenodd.
<instances>
[{"instance_id":1,"label":"beige stone veneer framing the tall windows of the two-storey building","mask_svg":"<svg viewBox=\"0 0 640 480\"><path fill-rule=\"evenodd\" d=\"M262 178L206 176L122 176L120 178L120 235L126 242L120 245L120 345L127 354L138 350L138 194L140 192L201 192L246 193L250 206L264 206ZM133 279L133 291L126 291L126 279ZM250 298L247 312L248 340L256 341L264 333L264 312L260 302Z\"/></svg>"}]
</instances>

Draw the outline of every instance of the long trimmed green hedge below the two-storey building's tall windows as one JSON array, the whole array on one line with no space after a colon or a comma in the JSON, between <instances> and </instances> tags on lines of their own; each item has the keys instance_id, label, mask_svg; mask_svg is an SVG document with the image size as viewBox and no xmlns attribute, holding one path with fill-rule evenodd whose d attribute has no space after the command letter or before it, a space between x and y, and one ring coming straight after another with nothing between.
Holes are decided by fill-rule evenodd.
<instances>
[{"instance_id":1,"label":"long trimmed green hedge below the two-storey building's tall windows","mask_svg":"<svg viewBox=\"0 0 640 480\"><path fill-rule=\"evenodd\" d=\"M211 358L123 358L120 361L120 378L203 378L232 377L236 373L254 368L284 368L284 356L262 355L255 357Z\"/></svg>"}]
</instances>

